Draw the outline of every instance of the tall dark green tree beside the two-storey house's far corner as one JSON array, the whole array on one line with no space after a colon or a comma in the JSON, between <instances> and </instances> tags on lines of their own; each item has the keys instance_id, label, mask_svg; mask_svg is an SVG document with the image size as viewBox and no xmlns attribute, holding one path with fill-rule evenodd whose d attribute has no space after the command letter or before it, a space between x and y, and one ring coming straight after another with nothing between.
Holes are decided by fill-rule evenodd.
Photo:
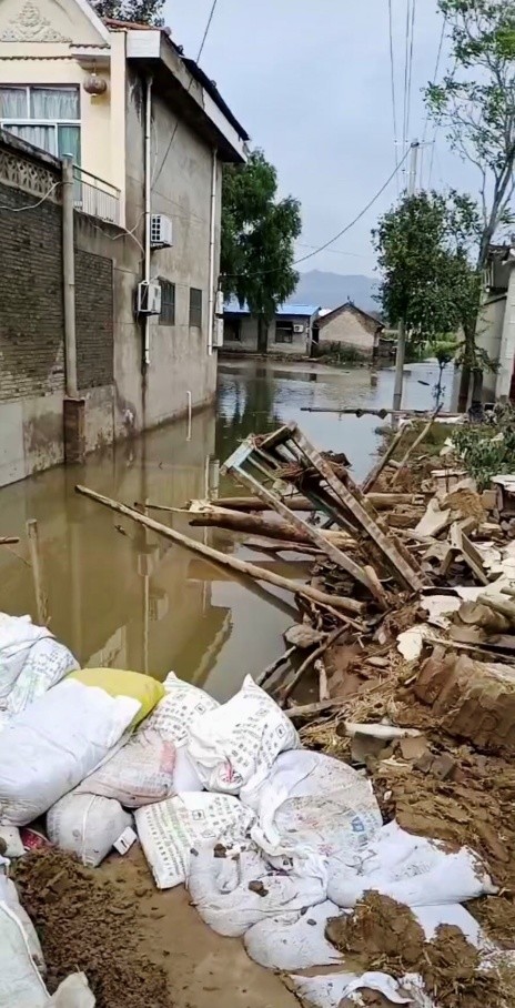
<instances>
[{"instance_id":1,"label":"tall dark green tree beside the two-storey house's far corner","mask_svg":"<svg viewBox=\"0 0 515 1008\"><path fill-rule=\"evenodd\" d=\"M245 301L258 319L258 349L267 349L267 327L279 304L299 282L294 241L301 210L292 196L277 199L277 173L262 151L223 173L221 274L226 296Z\"/></svg>"}]
</instances>

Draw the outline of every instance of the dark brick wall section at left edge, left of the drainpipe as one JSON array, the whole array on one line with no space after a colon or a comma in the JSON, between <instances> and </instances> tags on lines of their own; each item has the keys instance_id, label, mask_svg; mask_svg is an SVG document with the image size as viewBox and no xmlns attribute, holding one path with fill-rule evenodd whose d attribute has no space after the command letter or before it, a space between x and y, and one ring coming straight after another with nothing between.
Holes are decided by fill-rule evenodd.
<instances>
[{"instance_id":1,"label":"dark brick wall section at left edge, left of the drainpipe","mask_svg":"<svg viewBox=\"0 0 515 1008\"><path fill-rule=\"evenodd\" d=\"M0 401L64 389L61 208L0 182ZM9 208L9 209L7 209Z\"/></svg>"}]
</instances>

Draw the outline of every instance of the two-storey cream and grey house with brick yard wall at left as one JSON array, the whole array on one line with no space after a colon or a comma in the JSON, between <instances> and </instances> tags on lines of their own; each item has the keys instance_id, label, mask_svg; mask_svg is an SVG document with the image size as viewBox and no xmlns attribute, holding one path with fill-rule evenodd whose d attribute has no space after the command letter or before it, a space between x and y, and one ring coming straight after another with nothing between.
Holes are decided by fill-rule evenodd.
<instances>
[{"instance_id":1,"label":"two-storey cream and grey house with brick yard wall at left","mask_svg":"<svg viewBox=\"0 0 515 1008\"><path fill-rule=\"evenodd\" d=\"M168 31L87 0L1 0L0 131L1 485L62 461L65 401L89 450L213 400L222 164L249 138Z\"/></svg>"}]
</instances>

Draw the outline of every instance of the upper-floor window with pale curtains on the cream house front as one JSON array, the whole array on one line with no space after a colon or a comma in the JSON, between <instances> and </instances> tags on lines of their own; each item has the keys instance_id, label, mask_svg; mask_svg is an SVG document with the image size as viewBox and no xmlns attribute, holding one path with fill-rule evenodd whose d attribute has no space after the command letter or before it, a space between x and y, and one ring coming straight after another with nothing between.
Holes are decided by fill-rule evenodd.
<instances>
[{"instance_id":1,"label":"upper-floor window with pale curtains on the cream house front","mask_svg":"<svg viewBox=\"0 0 515 1008\"><path fill-rule=\"evenodd\" d=\"M0 127L55 158L80 163L79 88L2 85Z\"/></svg>"}]
</instances>

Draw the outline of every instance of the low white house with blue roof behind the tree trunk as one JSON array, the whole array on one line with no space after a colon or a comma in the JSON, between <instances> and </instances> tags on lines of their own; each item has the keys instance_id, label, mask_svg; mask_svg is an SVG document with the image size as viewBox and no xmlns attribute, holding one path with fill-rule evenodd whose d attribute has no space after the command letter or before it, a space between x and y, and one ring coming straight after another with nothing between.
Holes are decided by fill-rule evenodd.
<instances>
[{"instance_id":1,"label":"low white house with blue roof behind the tree trunk","mask_svg":"<svg viewBox=\"0 0 515 1008\"><path fill-rule=\"evenodd\" d=\"M269 325L267 353L310 356L319 308L281 304ZM258 319L232 299L223 310L223 346L234 353L258 353Z\"/></svg>"}]
</instances>

